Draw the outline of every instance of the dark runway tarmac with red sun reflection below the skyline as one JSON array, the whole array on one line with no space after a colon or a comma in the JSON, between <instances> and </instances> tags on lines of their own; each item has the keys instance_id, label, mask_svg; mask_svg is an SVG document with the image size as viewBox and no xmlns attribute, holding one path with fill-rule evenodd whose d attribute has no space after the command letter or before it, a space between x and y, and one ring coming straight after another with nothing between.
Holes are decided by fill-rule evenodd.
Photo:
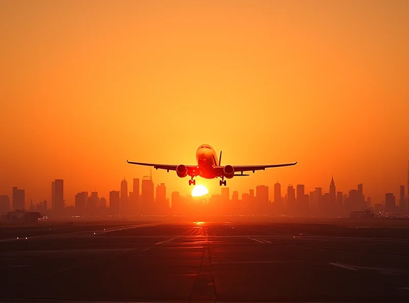
<instances>
[{"instance_id":1,"label":"dark runway tarmac with red sun reflection below the skyline","mask_svg":"<svg viewBox=\"0 0 409 303\"><path fill-rule=\"evenodd\" d=\"M1 227L0 300L407 302L409 227L393 225Z\"/></svg>"}]
</instances>

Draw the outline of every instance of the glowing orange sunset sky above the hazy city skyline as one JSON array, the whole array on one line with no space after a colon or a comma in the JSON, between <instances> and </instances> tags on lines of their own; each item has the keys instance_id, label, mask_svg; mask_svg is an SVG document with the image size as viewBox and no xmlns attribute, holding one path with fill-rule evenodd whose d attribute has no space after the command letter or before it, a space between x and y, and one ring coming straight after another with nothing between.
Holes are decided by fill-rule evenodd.
<instances>
[{"instance_id":1,"label":"glowing orange sunset sky above the hazy city skyline","mask_svg":"<svg viewBox=\"0 0 409 303\"><path fill-rule=\"evenodd\" d=\"M202 143L224 164L298 161L231 191L327 191L333 174L382 200L407 184L407 1L3 0L0 29L0 193L27 204L54 179L68 205L108 198L149 174L126 159L194 164Z\"/></svg>"}]
</instances>

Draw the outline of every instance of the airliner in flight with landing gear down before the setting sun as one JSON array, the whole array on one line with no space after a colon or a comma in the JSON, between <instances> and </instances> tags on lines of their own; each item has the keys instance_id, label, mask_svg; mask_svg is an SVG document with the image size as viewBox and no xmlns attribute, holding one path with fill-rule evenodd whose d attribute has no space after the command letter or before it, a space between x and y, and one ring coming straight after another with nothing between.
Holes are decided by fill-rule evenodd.
<instances>
[{"instance_id":1,"label":"airliner in flight with landing gear down before the setting sun","mask_svg":"<svg viewBox=\"0 0 409 303\"><path fill-rule=\"evenodd\" d=\"M232 165L221 165L221 151L219 156L219 161L216 158L217 154L214 148L208 144L202 144L196 150L196 160L197 165L168 165L168 164L153 164L153 163L141 163L141 162L132 162L126 160L129 164L136 164L136 165L144 165L144 166L151 166L156 170L159 169L166 169L168 172L169 170L175 170L176 175L179 178L185 178L186 176L190 176L191 179L189 180L189 185L196 185L196 180L194 177L200 176L205 179L214 179L214 178L221 178L219 185L226 186L226 179L232 179L235 176L249 176L243 175L244 171L253 171L253 174L256 170L265 170L266 168L271 167L282 167L282 166L291 166L296 165L297 162L294 163L287 163L287 164L273 164L273 165L247 165L247 166L232 166ZM235 174L235 172L241 172L241 174Z\"/></svg>"}]
</instances>

